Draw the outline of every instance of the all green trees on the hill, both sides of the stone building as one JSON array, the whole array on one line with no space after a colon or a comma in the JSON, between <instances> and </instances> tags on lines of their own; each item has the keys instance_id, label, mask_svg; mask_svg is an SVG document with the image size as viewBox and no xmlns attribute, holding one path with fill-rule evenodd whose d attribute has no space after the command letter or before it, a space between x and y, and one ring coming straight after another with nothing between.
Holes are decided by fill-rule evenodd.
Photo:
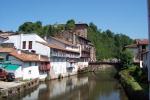
<instances>
[{"instance_id":1,"label":"all green trees on the hill, both sides of the stone building","mask_svg":"<svg viewBox=\"0 0 150 100\"><path fill-rule=\"evenodd\" d=\"M57 26L57 27L56 27ZM25 22L19 26L20 33L37 33L44 36L55 36L63 30L72 30L75 28L75 21L68 20L66 24L42 25L40 21ZM124 34L115 34L110 30L101 31L93 23L88 27L88 39L96 48L97 60L108 58L119 58L125 45L131 44L133 40Z\"/></svg>"}]
</instances>

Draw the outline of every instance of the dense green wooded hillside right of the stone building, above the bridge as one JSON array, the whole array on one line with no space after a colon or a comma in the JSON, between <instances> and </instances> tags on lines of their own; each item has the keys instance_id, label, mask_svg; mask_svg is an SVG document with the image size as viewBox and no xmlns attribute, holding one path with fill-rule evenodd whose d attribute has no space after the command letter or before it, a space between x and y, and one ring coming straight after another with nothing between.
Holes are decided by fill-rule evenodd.
<instances>
[{"instance_id":1,"label":"dense green wooded hillside right of the stone building, above the bridge","mask_svg":"<svg viewBox=\"0 0 150 100\"><path fill-rule=\"evenodd\" d=\"M96 48L97 60L120 58L124 46L133 43L129 36L115 34L110 30L101 31L93 23L89 24L88 39Z\"/></svg>"}]
</instances>

